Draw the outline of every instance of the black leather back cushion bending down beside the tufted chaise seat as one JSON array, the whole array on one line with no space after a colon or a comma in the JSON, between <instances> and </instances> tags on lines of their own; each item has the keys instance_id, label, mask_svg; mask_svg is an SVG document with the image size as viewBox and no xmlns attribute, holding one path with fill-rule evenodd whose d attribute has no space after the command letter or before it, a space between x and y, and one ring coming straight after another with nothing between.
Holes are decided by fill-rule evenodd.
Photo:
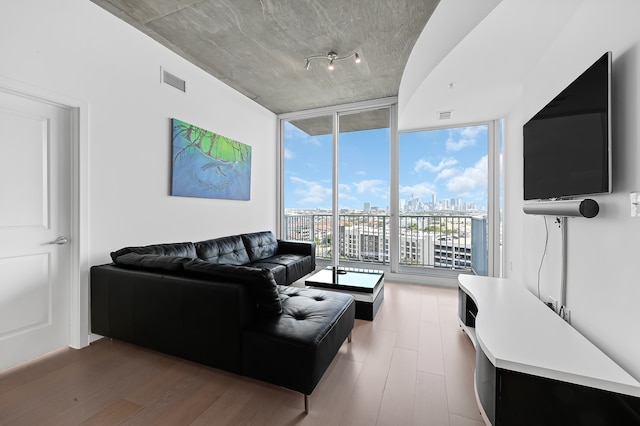
<instances>
[{"instance_id":1,"label":"black leather back cushion bending down beside the tufted chaise seat","mask_svg":"<svg viewBox=\"0 0 640 426\"><path fill-rule=\"evenodd\" d=\"M278 285L268 269L214 264L200 259L185 263L184 269L200 278L247 285L259 314L271 316L282 312Z\"/></svg>"}]
</instances>

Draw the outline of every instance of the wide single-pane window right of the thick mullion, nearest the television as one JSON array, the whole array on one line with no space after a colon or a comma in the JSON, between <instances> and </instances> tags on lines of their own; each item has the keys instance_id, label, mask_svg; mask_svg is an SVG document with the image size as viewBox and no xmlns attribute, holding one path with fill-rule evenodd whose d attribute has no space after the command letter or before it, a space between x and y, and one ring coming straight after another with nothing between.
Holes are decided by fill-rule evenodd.
<instances>
[{"instance_id":1,"label":"wide single-pane window right of the thick mullion, nearest the television","mask_svg":"<svg viewBox=\"0 0 640 426\"><path fill-rule=\"evenodd\" d=\"M489 122L400 134L400 271L499 275L493 249L499 133Z\"/></svg>"}]
</instances>

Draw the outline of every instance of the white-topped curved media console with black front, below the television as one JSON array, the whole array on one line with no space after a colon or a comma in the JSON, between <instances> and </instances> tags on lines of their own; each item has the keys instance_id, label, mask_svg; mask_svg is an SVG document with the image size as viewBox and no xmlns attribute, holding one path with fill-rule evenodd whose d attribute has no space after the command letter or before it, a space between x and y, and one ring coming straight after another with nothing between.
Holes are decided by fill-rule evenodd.
<instances>
[{"instance_id":1,"label":"white-topped curved media console with black front, below the television","mask_svg":"<svg viewBox=\"0 0 640 426\"><path fill-rule=\"evenodd\" d=\"M640 383L524 286L473 275L458 282L485 421L640 424Z\"/></svg>"}]
</instances>

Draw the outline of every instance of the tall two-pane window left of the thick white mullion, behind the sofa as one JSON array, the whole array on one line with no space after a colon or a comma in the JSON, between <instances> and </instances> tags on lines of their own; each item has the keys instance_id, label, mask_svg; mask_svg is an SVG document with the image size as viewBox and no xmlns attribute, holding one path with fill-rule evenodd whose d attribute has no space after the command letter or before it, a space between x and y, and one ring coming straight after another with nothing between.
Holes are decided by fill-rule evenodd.
<instances>
[{"instance_id":1,"label":"tall two-pane window left of the thick white mullion, behind the sofa","mask_svg":"<svg viewBox=\"0 0 640 426\"><path fill-rule=\"evenodd\" d=\"M390 110L386 102L281 122L281 234L315 241L320 264L388 264Z\"/></svg>"}]
</instances>

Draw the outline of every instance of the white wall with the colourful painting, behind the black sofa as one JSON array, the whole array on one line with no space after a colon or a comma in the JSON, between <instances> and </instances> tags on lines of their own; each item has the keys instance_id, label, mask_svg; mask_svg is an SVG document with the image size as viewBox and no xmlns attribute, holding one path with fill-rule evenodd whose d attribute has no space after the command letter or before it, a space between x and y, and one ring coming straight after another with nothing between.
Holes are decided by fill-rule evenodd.
<instances>
[{"instance_id":1,"label":"white wall with the colourful painting, behind the black sofa","mask_svg":"<svg viewBox=\"0 0 640 426\"><path fill-rule=\"evenodd\" d=\"M276 116L88 0L0 4L0 82L88 105L88 265L125 245L275 230ZM160 67L187 94L160 84ZM250 201L171 197L170 119L253 148Z\"/></svg>"}]
</instances>

